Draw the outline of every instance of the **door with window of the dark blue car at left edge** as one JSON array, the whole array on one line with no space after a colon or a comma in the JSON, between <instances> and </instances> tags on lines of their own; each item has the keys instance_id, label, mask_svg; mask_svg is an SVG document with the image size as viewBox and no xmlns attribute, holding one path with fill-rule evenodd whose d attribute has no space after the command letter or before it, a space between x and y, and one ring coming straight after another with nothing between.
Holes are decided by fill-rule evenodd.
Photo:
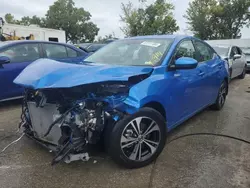
<instances>
[{"instance_id":1,"label":"door with window of the dark blue car at left edge","mask_svg":"<svg viewBox=\"0 0 250 188\"><path fill-rule=\"evenodd\" d=\"M39 44L15 44L0 51L0 56L7 56L11 60L0 68L0 100L22 96L23 88L14 84L13 80L27 65L41 57Z\"/></svg>"}]
</instances>

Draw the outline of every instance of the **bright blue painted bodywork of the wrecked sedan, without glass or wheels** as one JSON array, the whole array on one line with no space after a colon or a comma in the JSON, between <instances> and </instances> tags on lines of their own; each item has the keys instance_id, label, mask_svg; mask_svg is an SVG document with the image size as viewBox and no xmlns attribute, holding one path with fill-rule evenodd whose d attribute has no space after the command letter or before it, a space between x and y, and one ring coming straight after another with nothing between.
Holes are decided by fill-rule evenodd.
<instances>
[{"instance_id":1,"label":"bright blue painted bodywork of the wrecked sedan, without glass or wheels","mask_svg":"<svg viewBox=\"0 0 250 188\"><path fill-rule=\"evenodd\" d=\"M143 36L129 39L144 38L174 39L160 65L155 67L109 66L87 62L82 65L69 65L45 60L46 63L56 65L51 72L40 70L37 65L41 62L36 62L28 66L17 77L15 83L41 89L58 88L105 81L127 81L131 76L150 74L146 79L130 88L127 97L123 100L124 105L121 105L120 108L128 114L133 114L143 106L157 102L165 109L167 128L171 130L216 101L221 83L228 80L228 66L215 54L211 60L199 63L194 69L171 69L171 59L178 44L182 40L198 39L173 35ZM36 72L35 78L29 76L32 71Z\"/></svg>"}]
</instances>

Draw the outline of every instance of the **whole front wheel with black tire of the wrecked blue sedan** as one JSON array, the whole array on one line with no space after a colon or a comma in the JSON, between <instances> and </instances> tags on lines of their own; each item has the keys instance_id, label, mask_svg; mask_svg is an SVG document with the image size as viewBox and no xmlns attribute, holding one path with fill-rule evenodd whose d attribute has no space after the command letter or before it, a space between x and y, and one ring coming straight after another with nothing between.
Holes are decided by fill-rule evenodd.
<instances>
[{"instance_id":1,"label":"whole front wheel with black tire of the wrecked blue sedan","mask_svg":"<svg viewBox=\"0 0 250 188\"><path fill-rule=\"evenodd\" d=\"M141 131L138 131L137 122ZM165 119L158 111L145 107L114 125L106 147L117 164L126 168L140 168L159 156L165 141Z\"/></svg>"}]
</instances>

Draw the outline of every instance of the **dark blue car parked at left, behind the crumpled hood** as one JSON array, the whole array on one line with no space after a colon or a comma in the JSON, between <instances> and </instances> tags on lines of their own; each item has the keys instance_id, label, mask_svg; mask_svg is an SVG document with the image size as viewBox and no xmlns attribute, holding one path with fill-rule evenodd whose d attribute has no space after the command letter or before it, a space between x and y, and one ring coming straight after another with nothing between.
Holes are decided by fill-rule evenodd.
<instances>
[{"instance_id":1,"label":"dark blue car parked at left, behind the crumpled hood","mask_svg":"<svg viewBox=\"0 0 250 188\"><path fill-rule=\"evenodd\" d=\"M75 46L46 41L8 41L0 43L0 101L19 98L23 88L13 80L31 62L39 58L77 63L88 54ZM46 65L44 65L46 66ZM34 75L30 75L34 76Z\"/></svg>"}]
</instances>

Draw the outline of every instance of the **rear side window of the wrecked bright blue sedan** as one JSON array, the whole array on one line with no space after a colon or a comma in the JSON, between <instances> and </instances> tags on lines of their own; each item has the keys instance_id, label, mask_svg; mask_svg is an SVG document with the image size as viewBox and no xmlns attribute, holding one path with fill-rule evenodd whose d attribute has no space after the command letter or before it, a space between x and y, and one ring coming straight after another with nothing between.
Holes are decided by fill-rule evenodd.
<instances>
[{"instance_id":1,"label":"rear side window of the wrecked bright blue sedan","mask_svg":"<svg viewBox=\"0 0 250 188\"><path fill-rule=\"evenodd\" d=\"M200 41L195 41L196 59L198 62L208 61L213 59L214 52L206 44Z\"/></svg>"}]
</instances>

